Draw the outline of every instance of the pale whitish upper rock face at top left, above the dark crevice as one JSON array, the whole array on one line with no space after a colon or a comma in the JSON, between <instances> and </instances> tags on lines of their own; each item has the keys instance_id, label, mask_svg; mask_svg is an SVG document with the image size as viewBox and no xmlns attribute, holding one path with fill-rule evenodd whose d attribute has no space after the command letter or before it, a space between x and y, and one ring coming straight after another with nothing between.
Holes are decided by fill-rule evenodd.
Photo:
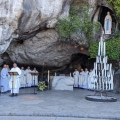
<instances>
[{"instance_id":1,"label":"pale whitish upper rock face at top left, above the dark crevice","mask_svg":"<svg viewBox=\"0 0 120 120\"><path fill-rule=\"evenodd\" d=\"M0 54L13 38L40 29L53 28L57 19L69 14L72 0L0 0ZM27 36L27 35L26 35Z\"/></svg>"}]
</instances>

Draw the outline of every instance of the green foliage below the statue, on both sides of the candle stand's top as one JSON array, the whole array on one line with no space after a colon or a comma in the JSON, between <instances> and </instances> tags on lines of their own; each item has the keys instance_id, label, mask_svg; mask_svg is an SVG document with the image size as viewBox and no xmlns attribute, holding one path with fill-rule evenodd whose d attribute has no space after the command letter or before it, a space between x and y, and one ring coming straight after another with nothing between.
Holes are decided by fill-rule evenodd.
<instances>
[{"instance_id":1,"label":"green foliage below the statue, on both sides of the candle stand's top","mask_svg":"<svg viewBox=\"0 0 120 120\"><path fill-rule=\"evenodd\" d=\"M93 42L89 47L90 58L98 55L98 42ZM106 55L109 59L120 59L120 37L106 41Z\"/></svg>"}]
</instances>

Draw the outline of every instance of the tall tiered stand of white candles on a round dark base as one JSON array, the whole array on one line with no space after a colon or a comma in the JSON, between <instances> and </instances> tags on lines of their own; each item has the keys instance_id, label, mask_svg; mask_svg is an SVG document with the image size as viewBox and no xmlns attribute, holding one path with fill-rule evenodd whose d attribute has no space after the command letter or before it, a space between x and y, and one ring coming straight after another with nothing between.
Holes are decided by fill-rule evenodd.
<instances>
[{"instance_id":1,"label":"tall tiered stand of white candles on a round dark base","mask_svg":"<svg viewBox=\"0 0 120 120\"><path fill-rule=\"evenodd\" d=\"M112 70L112 64L107 63L108 57L106 56L106 43L101 37L98 47L98 56L94 63L94 76L92 84L92 90L95 91L94 95L88 95L85 98L90 101L97 102L116 102L115 97L109 97L108 91L113 90L113 76L114 71Z\"/></svg>"}]
</instances>

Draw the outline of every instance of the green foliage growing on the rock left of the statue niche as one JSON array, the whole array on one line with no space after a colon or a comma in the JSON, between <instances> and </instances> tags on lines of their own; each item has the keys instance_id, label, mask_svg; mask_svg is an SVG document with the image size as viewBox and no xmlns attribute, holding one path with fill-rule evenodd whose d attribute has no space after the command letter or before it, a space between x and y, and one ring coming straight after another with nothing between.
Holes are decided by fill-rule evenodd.
<instances>
[{"instance_id":1,"label":"green foliage growing on the rock left of the statue niche","mask_svg":"<svg viewBox=\"0 0 120 120\"><path fill-rule=\"evenodd\" d=\"M100 23L90 20L88 7L72 6L70 15L66 18L59 19L56 24L56 31L62 40L71 40L74 33L76 40L83 40L83 34L88 41L93 39L93 31L99 30Z\"/></svg>"}]
</instances>

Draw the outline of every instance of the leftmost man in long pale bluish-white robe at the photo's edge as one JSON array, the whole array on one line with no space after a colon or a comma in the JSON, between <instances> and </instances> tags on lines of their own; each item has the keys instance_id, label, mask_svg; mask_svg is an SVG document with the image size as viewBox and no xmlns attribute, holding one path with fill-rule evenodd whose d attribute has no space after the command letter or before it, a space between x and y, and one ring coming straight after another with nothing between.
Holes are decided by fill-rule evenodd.
<instances>
[{"instance_id":1,"label":"leftmost man in long pale bluish-white robe at the photo's edge","mask_svg":"<svg viewBox=\"0 0 120 120\"><path fill-rule=\"evenodd\" d=\"M1 70L1 92L7 92L9 90L8 84L8 70L7 65L4 64L3 69Z\"/></svg>"}]
</instances>

